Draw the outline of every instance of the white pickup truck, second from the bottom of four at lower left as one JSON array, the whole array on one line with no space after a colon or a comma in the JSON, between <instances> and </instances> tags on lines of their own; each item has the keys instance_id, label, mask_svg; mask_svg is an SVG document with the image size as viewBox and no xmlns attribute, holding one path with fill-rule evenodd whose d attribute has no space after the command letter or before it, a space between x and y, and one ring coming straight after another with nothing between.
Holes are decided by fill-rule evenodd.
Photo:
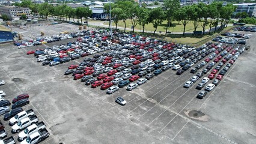
<instances>
[{"instance_id":1,"label":"white pickup truck, second from the bottom of four at lower left","mask_svg":"<svg viewBox=\"0 0 256 144\"><path fill-rule=\"evenodd\" d=\"M30 136L30 134L34 133L35 131L43 130L44 128L46 128L46 125L42 121L38 122L37 124L32 124L29 127L27 127L25 130L23 130L22 132L19 133L18 139L20 141L22 141L22 140L26 139L26 137Z\"/></svg>"}]
</instances>

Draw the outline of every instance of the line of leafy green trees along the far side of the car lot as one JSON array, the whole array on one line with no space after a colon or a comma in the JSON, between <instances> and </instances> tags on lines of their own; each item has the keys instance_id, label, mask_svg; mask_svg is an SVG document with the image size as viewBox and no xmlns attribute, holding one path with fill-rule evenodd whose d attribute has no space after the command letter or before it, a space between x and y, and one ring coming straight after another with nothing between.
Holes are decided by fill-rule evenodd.
<instances>
[{"instance_id":1,"label":"line of leafy green trees along the far side of the car lot","mask_svg":"<svg viewBox=\"0 0 256 144\"><path fill-rule=\"evenodd\" d=\"M15 4L14 4L15 5ZM31 1L22 1L22 3L16 4L20 7L29 7L33 13L38 13L41 17L47 19L47 16L59 16L59 18L66 17L70 19L81 19L84 17L87 20L87 17L90 17L92 11L88 7L79 7L71 8L66 4L57 5L53 7L52 4L43 3L43 4L32 4ZM104 5L105 13L108 14L115 23L115 28L117 28L118 22L124 22L124 32L126 31L126 22L130 20L132 23L132 31L137 25L142 26L142 32L144 32L145 26L148 23L152 23L154 27L154 34L159 25L166 20L166 31L167 34L168 28L172 26L172 22L175 20L181 22L183 25L183 35L186 31L186 25L189 22L192 22L194 25L194 31L197 31L198 26L202 26L203 35L206 31L206 26L211 29L215 28L214 32L221 31L233 15L236 7L232 4L222 5L222 2L212 2L211 4L204 4L200 2L199 4L187 5L184 7L180 6L179 0L165 0L163 2L163 7L157 8L147 8L147 5L142 4L141 6L138 3L132 1L116 1L111 3L111 14L109 9L109 3ZM74 20L75 22L75 20ZM220 27L218 28L218 25ZM110 23L109 23L110 26Z\"/></svg>"}]
</instances>

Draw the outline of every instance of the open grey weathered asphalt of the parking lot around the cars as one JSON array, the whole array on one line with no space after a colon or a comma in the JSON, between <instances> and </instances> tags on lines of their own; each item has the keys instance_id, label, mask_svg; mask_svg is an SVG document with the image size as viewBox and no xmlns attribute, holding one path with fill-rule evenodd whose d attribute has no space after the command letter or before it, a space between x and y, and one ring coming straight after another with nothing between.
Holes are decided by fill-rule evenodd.
<instances>
[{"instance_id":1,"label":"open grey weathered asphalt of the parking lot around the cars","mask_svg":"<svg viewBox=\"0 0 256 144\"><path fill-rule=\"evenodd\" d=\"M196 98L199 90L195 87L210 71L190 88L183 88L195 75L190 69L181 75L169 69L133 91L122 88L109 95L64 75L69 65L83 58L49 67L26 55L28 50L75 38L25 49L5 44L0 49L0 79L6 84L0 88L9 100L22 92L31 96L31 104L24 109L36 110L50 130L50 137L41 143L253 143L254 38L255 34L248 40L251 49L239 56L221 83L201 100ZM117 96L127 101L126 106L114 102ZM9 132L8 136L16 134Z\"/></svg>"}]
</instances>

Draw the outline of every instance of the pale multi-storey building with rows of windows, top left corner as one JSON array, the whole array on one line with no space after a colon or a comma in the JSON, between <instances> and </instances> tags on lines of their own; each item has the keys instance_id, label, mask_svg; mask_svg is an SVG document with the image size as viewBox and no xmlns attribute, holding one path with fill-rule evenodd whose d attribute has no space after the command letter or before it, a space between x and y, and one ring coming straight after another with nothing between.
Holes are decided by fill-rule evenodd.
<instances>
[{"instance_id":1,"label":"pale multi-storey building with rows of windows, top left corner","mask_svg":"<svg viewBox=\"0 0 256 144\"><path fill-rule=\"evenodd\" d=\"M25 14L28 19L31 19L31 10L23 7L0 7L0 14L6 14L12 20L17 20L17 17L21 17L23 14Z\"/></svg>"}]
</instances>

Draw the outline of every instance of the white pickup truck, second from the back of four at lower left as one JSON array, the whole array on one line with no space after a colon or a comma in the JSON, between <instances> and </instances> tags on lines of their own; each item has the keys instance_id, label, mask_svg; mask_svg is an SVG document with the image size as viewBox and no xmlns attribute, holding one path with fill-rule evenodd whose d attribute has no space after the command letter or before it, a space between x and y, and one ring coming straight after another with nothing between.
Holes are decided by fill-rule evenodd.
<instances>
[{"instance_id":1,"label":"white pickup truck, second from the back of four at lower left","mask_svg":"<svg viewBox=\"0 0 256 144\"><path fill-rule=\"evenodd\" d=\"M24 128L28 127L31 124L35 124L38 121L39 120L36 115L28 116L27 118L23 118L17 124L13 125L13 127L11 127L11 130L13 131L13 133L19 133L20 130L23 130Z\"/></svg>"}]
</instances>

